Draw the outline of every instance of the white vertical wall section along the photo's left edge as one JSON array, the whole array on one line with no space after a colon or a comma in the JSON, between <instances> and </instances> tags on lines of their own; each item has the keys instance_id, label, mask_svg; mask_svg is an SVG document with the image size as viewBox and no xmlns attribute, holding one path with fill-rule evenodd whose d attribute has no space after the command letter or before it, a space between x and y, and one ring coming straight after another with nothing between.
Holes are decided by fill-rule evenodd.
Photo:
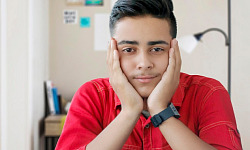
<instances>
[{"instance_id":1,"label":"white vertical wall section along the photo's left edge","mask_svg":"<svg viewBox=\"0 0 250 150\"><path fill-rule=\"evenodd\" d=\"M44 115L43 81L48 77L48 0L3 3L0 100L6 108L1 109L0 148L36 150Z\"/></svg>"}]
</instances>

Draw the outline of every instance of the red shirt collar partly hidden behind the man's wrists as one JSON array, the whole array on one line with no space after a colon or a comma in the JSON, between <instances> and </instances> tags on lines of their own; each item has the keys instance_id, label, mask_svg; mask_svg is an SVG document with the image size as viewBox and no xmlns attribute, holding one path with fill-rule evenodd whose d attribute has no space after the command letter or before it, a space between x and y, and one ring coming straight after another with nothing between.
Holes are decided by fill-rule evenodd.
<instances>
[{"instance_id":1,"label":"red shirt collar partly hidden behind the man's wrists","mask_svg":"<svg viewBox=\"0 0 250 150\"><path fill-rule=\"evenodd\" d=\"M181 73L180 76L182 76L183 73ZM180 77L180 82L179 85L175 91L175 94L172 97L171 102L174 104L174 106L176 107L181 107L183 99L184 99L184 89L185 89L185 81L183 80L183 78ZM119 100L118 96L115 94L115 108L117 108L117 106L121 105L121 101Z\"/></svg>"}]
</instances>

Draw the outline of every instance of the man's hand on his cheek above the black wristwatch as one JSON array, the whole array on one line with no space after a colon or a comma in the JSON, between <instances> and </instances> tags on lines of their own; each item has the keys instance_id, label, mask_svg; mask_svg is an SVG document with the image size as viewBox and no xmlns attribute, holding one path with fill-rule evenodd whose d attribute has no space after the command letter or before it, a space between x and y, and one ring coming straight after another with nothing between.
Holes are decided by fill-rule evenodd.
<instances>
[{"instance_id":1,"label":"man's hand on his cheek above the black wristwatch","mask_svg":"<svg viewBox=\"0 0 250 150\"><path fill-rule=\"evenodd\" d=\"M181 55L176 39L171 41L169 50L169 64L164 72L161 81L149 95L147 103L151 116L158 114L168 107L174 95L180 79Z\"/></svg>"}]
</instances>

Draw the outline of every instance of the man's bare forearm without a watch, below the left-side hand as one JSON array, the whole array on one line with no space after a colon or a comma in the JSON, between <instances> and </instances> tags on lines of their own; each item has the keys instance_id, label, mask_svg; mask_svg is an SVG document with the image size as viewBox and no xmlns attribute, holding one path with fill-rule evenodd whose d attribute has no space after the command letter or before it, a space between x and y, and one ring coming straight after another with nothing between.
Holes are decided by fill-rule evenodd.
<instances>
[{"instance_id":1,"label":"man's bare forearm without a watch, below the left-side hand","mask_svg":"<svg viewBox=\"0 0 250 150\"><path fill-rule=\"evenodd\" d=\"M139 119L139 113L121 111L120 114L91 142L87 150L122 149Z\"/></svg>"}]
</instances>

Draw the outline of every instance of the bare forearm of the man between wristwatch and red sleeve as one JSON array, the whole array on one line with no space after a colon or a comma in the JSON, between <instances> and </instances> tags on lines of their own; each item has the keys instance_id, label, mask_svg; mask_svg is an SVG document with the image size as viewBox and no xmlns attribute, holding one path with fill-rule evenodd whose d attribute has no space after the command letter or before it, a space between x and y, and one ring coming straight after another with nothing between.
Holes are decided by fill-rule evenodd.
<instances>
[{"instance_id":1,"label":"bare forearm of the man between wristwatch and red sleeve","mask_svg":"<svg viewBox=\"0 0 250 150\"><path fill-rule=\"evenodd\" d=\"M165 139L175 150L214 150L215 148L201 140L178 119L171 117L159 126Z\"/></svg>"}]
</instances>

